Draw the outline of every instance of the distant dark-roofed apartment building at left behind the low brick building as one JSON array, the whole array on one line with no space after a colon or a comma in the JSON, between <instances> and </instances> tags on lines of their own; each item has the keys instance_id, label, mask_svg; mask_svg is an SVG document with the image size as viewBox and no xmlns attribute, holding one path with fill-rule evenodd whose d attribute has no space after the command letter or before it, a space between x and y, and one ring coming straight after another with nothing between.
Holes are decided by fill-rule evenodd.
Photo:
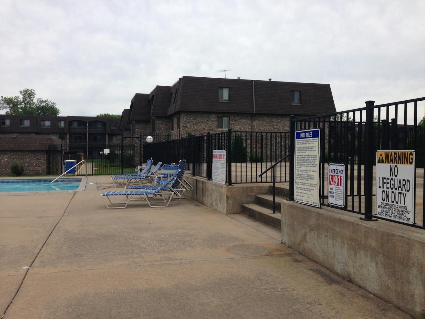
<instances>
[{"instance_id":1,"label":"distant dark-roofed apartment building at left behind the low brick building","mask_svg":"<svg viewBox=\"0 0 425 319\"><path fill-rule=\"evenodd\" d=\"M64 149L98 154L111 143L120 143L119 118L0 115L0 134L52 135Z\"/></svg>"}]
</instances>

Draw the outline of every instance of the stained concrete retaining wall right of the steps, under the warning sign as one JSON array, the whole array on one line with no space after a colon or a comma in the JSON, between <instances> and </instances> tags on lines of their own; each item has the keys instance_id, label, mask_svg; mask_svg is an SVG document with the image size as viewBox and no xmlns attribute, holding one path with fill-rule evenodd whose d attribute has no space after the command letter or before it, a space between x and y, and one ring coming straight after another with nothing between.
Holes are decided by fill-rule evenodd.
<instances>
[{"instance_id":1,"label":"stained concrete retaining wall right of the steps, under the warning sign","mask_svg":"<svg viewBox=\"0 0 425 319\"><path fill-rule=\"evenodd\" d=\"M283 201L282 242L417 318L425 313L425 231Z\"/></svg>"}]
</instances>

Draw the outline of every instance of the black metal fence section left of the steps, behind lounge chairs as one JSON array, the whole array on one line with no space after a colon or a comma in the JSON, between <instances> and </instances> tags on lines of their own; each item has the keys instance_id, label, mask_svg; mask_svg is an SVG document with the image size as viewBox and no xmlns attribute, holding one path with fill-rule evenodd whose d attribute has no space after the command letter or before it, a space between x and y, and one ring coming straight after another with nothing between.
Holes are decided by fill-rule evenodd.
<instances>
[{"instance_id":1,"label":"black metal fence section left of the steps, behind lounge chairs","mask_svg":"<svg viewBox=\"0 0 425 319\"><path fill-rule=\"evenodd\" d=\"M143 145L145 158L155 162L178 162L186 159L193 176L211 179L212 151L226 150L226 182L271 182L272 172L258 177L264 169L289 151L289 132L224 131ZM276 181L289 182L289 165L277 165Z\"/></svg>"}]
</instances>

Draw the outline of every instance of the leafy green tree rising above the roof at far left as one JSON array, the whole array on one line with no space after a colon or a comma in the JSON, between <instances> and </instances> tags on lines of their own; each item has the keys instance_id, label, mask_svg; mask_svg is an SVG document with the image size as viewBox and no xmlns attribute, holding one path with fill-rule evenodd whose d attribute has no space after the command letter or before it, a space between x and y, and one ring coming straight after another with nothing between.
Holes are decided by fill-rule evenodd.
<instances>
[{"instance_id":1,"label":"leafy green tree rising above the roof at far left","mask_svg":"<svg viewBox=\"0 0 425 319\"><path fill-rule=\"evenodd\" d=\"M59 108L50 100L35 99L35 90L25 88L19 91L20 95L15 97L1 97L0 110L7 110L11 115L48 115L58 116Z\"/></svg>"}]
</instances>

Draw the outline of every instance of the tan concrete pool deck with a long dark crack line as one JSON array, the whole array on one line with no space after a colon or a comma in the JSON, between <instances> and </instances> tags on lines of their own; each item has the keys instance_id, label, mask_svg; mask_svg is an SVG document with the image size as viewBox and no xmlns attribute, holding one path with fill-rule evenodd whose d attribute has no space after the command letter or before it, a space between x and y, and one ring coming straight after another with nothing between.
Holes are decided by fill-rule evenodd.
<instances>
[{"instance_id":1,"label":"tan concrete pool deck with a long dark crack line","mask_svg":"<svg viewBox=\"0 0 425 319\"><path fill-rule=\"evenodd\" d=\"M111 186L1 197L4 318L410 318L246 216L190 199L108 210Z\"/></svg>"}]
</instances>

